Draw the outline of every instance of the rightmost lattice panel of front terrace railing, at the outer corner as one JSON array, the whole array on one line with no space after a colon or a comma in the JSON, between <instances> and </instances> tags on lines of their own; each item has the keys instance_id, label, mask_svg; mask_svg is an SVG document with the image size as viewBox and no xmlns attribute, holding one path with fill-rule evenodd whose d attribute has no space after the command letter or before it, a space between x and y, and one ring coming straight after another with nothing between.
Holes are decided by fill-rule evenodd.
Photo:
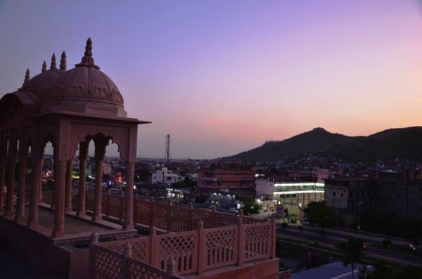
<instances>
[{"instance_id":1,"label":"rightmost lattice panel of front terrace railing, at the outer corner","mask_svg":"<svg viewBox=\"0 0 422 279\"><path fill-rule=\"evenodd\" d=\"M245 225L245 261L270 256L271 224L255 223Z\"/></svg>"}]
</instances>

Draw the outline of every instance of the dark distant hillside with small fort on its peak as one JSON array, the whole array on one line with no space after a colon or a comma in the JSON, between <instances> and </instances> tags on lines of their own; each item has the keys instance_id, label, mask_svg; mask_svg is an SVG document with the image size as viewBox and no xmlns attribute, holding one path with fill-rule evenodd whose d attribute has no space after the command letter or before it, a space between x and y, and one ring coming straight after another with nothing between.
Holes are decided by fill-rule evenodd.
<instances>
[{"instance_id":1,"label":"dark distant hillside with small fort on its peak","mask_svg":"<svg viewBox=\"0 0 422 279\"><path fill-rule=\"evenodd\" d=\"M345 136L315 128L284 141L221 158L224 162L275 162L305 154L331 155L349 161L405 158L422 162L422 126L388 129L371 136Z\"/></svg>"}]
</instances>

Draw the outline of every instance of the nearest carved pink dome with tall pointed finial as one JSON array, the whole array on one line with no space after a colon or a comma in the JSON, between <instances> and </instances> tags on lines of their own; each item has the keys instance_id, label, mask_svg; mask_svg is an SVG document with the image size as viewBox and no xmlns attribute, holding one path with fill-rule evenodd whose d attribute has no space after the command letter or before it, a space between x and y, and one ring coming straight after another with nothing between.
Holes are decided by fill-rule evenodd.
<instances>
[{"instance_id":1,"label":"nearest carved pink dome with tall pointed finial","mask_svg":"<svg viewBox=\"0 0 422 279\"><path fill-rule=\"evenodd\" d=\"M92 58L92 42L89 38L81 63L56 77L46 91L44 103L77 101L123 106L123 97L119 89L110 77L99 69Z\"/></svg>"}]
</instances>

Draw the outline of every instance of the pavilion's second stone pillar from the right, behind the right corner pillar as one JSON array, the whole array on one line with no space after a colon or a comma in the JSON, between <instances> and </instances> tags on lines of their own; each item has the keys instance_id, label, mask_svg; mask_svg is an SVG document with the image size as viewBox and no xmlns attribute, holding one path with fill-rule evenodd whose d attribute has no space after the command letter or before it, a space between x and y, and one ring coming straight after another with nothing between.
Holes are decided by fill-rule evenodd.
<instances>
[{"instance_id":1,"label":"pavilion's second stone pillar from the right, behind the right corner pillar","mask_svg":"<svg viewBox=\"0 0 422 279\"><path fill-rule=\"evenodd\" d=\"M100 221L101 217L101 190L103 182L103 160L106 154L106 143L101 140L95 142L95 191L94 191L94 215L92 221Z\"/></svg>"}]
</instances>

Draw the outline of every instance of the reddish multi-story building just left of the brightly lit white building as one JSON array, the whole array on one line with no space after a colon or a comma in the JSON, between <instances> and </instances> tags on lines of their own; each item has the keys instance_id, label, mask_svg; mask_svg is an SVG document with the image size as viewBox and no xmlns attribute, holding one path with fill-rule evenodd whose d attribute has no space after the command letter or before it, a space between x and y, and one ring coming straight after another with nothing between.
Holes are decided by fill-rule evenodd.
<instances>
[{"instance_id":1,"label":"reddish multi-story building just left of the brightly lit white building","mask_svg":"<svg viewBox=\"0 0 422 279\"><path fill-rule=\"evenodd\" d=\"M211 163L198 172L201 195L235 195L244 201L255 200L255 167L248 164Z\"/></svg>"}]
</instances>

